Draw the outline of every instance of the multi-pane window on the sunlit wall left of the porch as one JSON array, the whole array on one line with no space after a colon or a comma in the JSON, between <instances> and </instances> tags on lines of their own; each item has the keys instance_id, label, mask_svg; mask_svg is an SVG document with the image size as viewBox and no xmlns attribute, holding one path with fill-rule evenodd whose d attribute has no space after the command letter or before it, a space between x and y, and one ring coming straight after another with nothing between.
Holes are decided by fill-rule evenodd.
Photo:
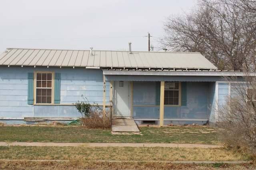
<instances>
[{"instance_id":1,"label":"multi-pane window on the sunlit wall left of the porch","mask_svg":"<svg viewBox=\"0 0 256 170\"><path fill-rule=\"evenodd\" d=\"M36 73L36 104L52 104L52 73Z\"/></svg>"}]
</instances>

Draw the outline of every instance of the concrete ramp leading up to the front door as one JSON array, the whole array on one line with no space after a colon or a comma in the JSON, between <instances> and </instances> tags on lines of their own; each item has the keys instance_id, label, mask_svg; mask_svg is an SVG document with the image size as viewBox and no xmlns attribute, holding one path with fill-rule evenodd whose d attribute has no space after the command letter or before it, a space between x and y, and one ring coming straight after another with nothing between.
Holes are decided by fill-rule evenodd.
<instances>
[{"instance_id":1,"label":"concrete ramp leading up to the front door","mask_svg":"<svg viewBox=\"0 0 256 170\"><path fill-rule=\"evenodd\" d=\"M131 117L115 117L112 132L140 133L140 130Z\"/></svg>"}]
</instances>

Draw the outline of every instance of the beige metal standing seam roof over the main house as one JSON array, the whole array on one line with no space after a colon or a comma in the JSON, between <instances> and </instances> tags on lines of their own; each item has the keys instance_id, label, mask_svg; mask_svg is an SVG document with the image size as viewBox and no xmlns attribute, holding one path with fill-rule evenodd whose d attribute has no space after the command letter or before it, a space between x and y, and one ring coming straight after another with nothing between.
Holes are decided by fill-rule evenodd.
<instances>
[{"instance_id":1,"label":"beige metal standing seam roof over the main house","mask_svg":"<svg viewBox=\"0 0 256 170\"><path fill-rule=\"evenodd\" d=\"M103 68L177 68L217 70L200 53L6 49L0 65L8 66L72 66Z\"/></svg>"}]
</instances>

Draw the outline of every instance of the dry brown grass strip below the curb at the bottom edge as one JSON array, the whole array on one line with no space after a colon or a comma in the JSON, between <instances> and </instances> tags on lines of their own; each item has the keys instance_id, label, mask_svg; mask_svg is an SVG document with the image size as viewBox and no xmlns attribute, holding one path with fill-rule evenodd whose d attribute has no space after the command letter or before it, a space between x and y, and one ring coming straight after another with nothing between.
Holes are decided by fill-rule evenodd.
<instances>
[{"instance_id":1,"label":"dry brown grass strip below the curb at the bottom edge","mask_svg":"<svg viewBox=\"0 0 256 170\"><path fill-rule=\"evenodd\" d=\"M217 165L217 167L216 167ZM155 169L155 170L247 170L255 168L253 164L172 164L169 162L99 162L99 161L70 161L70 162L55 162L55 161L1 161L0 169L9 170L59 170L59 169Z\"/></svg>"}]
</instances>

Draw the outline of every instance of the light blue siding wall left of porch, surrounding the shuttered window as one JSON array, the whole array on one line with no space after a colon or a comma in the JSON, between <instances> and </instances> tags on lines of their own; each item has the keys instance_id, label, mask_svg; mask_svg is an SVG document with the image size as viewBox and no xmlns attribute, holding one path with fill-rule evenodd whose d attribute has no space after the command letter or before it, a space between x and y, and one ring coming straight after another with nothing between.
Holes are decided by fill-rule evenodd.
<instances>
[{"instance_id":1,"label":"light blue siding wall left of porch, surrounding the shuttered window","mask_svg":"<svg viewBox=\"0 0 256 170\"><path fill-rule=\"evenodd\" d=\"M49 71L60 73L60 105L28 104L28 73ZM55 89L57 90L57 89ZM106 104L109 104L110 83L106 82ZM103 75L100 69L0 66L0 118L78 117L72 104L84 101L103 104Z\"/></svg>"}]
</instances>

